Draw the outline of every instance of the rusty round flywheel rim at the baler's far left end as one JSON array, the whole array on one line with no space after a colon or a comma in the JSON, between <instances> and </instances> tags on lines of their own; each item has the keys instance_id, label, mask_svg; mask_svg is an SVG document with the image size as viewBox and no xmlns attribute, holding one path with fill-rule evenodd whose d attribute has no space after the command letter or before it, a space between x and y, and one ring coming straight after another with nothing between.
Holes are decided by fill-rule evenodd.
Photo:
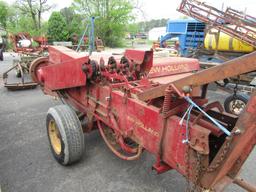
<instances>
[{"instance_id":1,"label":"rusty round flywheel rim at the baler's far left end","mask_svg":"<svg viewBox=\"0 0 256 192\"><path fill-rule=\"evenodd\" d=\"M38 84L42 84L42 82L40 82L39 79L37 78L37 74L36 74L37 69L39 67L47 65L48 61L49 61L48 57L39 57L31 62L29 67L29 74L34 82Z\"/></svg>"}]
</instances>

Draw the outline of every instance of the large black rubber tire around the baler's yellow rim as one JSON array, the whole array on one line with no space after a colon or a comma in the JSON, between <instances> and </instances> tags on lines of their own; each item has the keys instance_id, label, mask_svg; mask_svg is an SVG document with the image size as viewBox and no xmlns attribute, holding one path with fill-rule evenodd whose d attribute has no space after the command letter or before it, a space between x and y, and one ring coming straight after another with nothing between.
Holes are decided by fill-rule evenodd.
<instances>
[{"instance_id":1,"label":"large black rubber tire around the baler's yellow rim","mask_svg":"<svg viewBox=\"0 0 256 192\"><path fill-rule=\"evenodd\" d=\"M49 137L49 123L53 120L60 133L61 152L56 154ZM47 135L51 151L61 165L70 165L79 161L84 153L84 133L81 123L68 105L59 105L49 109L46 117Z\"/></svg>"}]
</instances>

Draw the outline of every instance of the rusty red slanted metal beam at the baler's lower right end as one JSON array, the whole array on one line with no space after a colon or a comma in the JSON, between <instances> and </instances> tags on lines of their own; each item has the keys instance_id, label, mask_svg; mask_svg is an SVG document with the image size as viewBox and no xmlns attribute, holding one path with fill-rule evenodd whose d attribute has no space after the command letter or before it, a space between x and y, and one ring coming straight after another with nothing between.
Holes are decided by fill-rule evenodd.
<instances>
[{"instance_id":1,"label":"rusty red slanted metal beam at the baler's lower right end","mask_svg":"<svg viewBox=\"0 0 256 192\"><path fill-rule=\"evenodd\" d=\"M235 177L239 173L241 166L256 144L256 123L254 122L256 118L255 106L256 94L253 94L233 130L233 133L237 131L239 134L233 134L230 138L226 139L225 143L228 144L229 147L225 148L224 143L212 164L218 162L220 159L222 159L222 162L219 163L220 165L215 171L206 172L203 175L203 185L213 187L225 176L229 175Z\"/></svg>"}]
</instances>

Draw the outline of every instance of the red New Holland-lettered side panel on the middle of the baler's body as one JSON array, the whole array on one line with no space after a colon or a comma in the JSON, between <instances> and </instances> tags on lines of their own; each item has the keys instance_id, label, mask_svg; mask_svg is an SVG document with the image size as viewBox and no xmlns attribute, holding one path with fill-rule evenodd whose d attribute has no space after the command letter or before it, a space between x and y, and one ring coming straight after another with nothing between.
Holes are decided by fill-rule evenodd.
<instances>
[{"instance_id":1,"label":"red New Holland-lettered side panel on the middle of the baler's body","mask_svg":"<svg viewBox=\"0 0 256 192\"><path fill-rule=\"evenodd\" d=\"M112 92L110 103L120 131L134 138L149 152L158 154L162 128L159 109L126 97L120 91Z\"/></svg>"}]
</instances>

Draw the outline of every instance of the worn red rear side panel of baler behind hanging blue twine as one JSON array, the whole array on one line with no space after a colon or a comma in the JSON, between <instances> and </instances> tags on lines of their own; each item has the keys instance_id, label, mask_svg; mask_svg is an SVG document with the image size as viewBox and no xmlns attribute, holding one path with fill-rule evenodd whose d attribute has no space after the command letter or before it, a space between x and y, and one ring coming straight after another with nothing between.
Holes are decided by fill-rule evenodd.
<instances>
[{"instance_id":1,"label":"worn red rear side panel of baler behind hanging blue twine","mask_svg":"<svg viewBox=\"0 0 256 192\"><path fill-rule=\"evenodd\" d=\"M187 169L193 174L193 164L196 164L196 159L191 155L191 149L200 151L200 154L209 155L209 135L210 130L207 130L199 125L190 125L190 142L184 143L186 140L186 122L180 124L181 118L172 116L168 118L166 124L166 134L163 136L163 161L170 167L175 168L182 175L187 174ZM190 150L190 151L188 151ZM187 166L186 156L190 155Z\"/></svg>"}]
</instances>

